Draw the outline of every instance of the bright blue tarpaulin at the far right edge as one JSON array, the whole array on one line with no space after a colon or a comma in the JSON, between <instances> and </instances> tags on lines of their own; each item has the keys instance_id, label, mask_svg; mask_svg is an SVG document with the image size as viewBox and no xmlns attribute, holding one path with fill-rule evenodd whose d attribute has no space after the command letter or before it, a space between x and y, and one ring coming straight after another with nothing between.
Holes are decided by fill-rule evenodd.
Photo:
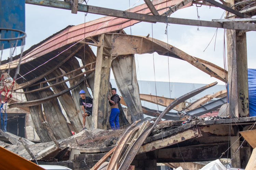
<instances>
[{"instance_id":1,"label":"bright blue tarpaulin at the far right edge","mask_svg":"<svg viewBox=\"0 0 256 170\"><path fill-rule=\"evenodd\" d=\"M249 115L256 116L256 69L248 69Z\"/></svg>"}]
</instances>

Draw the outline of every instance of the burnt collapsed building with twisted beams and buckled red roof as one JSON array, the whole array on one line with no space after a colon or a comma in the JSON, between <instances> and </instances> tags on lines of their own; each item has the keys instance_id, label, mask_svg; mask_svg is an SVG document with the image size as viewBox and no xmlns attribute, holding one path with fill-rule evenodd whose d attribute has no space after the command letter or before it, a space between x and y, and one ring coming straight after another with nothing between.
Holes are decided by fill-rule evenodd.
<instances>
[{"instance_id":1,"label":"burnt collapsed building with twisted beams and buckled red roof","mask_svg":"<svg viewBox=\"0 0 256 170\"><path fill-rule=\"evenodd\" d=\"M164 3L168 3L165 6L175 7L180 4L171 0L154 1L159 14L169 10L169 7L161 7ZM183 7L192 4L190 1L183 4ZM129 12L152 13L146 4L131 8ZM238 36L232 32L243 43L234 45L237 56L233 56L233 46L228 46L228 60L232 67L236 67L233 68L236 71L228 72L158 39L127 35L124 32L123 28L138 22L106 16L77 26L68 26L24 51L13 87L16 91L13 93L16 97L24 94L26 101L13 97L8 101L8 107L20 109L17 114L31 115L40 143L1 131L0 139L3 142L0 145L28 160L37 159L42 164L66 165L77 170L115 167L128 169L130 165L135 169L156 169L157 163L176 167L177 163L212 161L223 155L232 159L234 167L245 168L252 148L242 140L239 132L247 131L256 121L256 117L249 117L248 80L244 76L247 74L247 64L240 65L247 63L247 56L244 55L246 52L243 51L246 49L242 48L243 43L246 44L246 33L241 32ZM227 36L229 42L231 35L228 33ZM97 47L97 54L94 54L90 46ZM193 103L186 102L216 85L216 82L177 99L140 94L134 54L153 52L184 60L225 83L228 80L233 82L228 87L229 105L226 90L216 91ZM241 61L232 60L232 57L241 56ZM82 65L77 58L82 61ZM10 77L13 78L18 62L19 55L12 62L2 61L0 69L10 67ZM121 130L115 131L108 130L110 106L107 96L112 88L111 69L122 96L120 103L127 106L130 117L127 119L128 114L121 112ZM66 82L69 82L70 87ZM81 89L85 90L87 97L93 95L93 115L86 118L89 127L82 132L82 111L78 96ZM207 103L213 98L219 99ZM166 109L162 112L143 107L141 100L166 106ZM61 106L70 123L62 114ZM221 117L197 117L222 106L226 108L222 109ZM171 109L178 112L169 112ZM156 118L144 118L144 115ZM196 168L201 167L198 165Z\"/></svg>"}]
</instances>

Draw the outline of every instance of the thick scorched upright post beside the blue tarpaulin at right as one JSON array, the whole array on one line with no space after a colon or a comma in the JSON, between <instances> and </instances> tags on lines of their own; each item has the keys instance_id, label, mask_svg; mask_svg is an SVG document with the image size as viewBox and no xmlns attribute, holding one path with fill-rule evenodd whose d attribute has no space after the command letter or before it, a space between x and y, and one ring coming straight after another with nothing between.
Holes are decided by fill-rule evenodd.
<instances>
[{"instance_id":1,"label":"thick scorched upright post beside the blue tarpaulin at right","mask_svg":"<svg viewBox=\"0 0 256 170\"><path fill-rule=\"evenodd\" d=\"M227 0L229 5L234 0ZM246 33L227 30L228 96L230 114L249 116Z\"/></svg>"}]
</instances>

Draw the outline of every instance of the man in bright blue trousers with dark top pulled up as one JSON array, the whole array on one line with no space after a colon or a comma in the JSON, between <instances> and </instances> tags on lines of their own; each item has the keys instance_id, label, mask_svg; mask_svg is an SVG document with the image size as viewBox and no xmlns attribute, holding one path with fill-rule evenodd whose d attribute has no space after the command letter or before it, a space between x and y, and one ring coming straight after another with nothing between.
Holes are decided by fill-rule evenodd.
<instances>
[{"instance_id":1,"label":"man in bright blue trousers with dark top pulled up","mask_svg":"<svg viewBox=\"0 0 256 170\"><path fill-rule=\"evenodd\" d=\"M111 107L111 114L109 116L109 123L110 123L111 129L115 130L115 129L120 129L120 127L119 127L120 111L118 109L118 103L120 102L120 98L116 94L116 88L111 89L111 94L112 94L111 98L109 98L109 96L108 96L109 104L110 104L110 107Z\"/></svg>"}]
</instances>

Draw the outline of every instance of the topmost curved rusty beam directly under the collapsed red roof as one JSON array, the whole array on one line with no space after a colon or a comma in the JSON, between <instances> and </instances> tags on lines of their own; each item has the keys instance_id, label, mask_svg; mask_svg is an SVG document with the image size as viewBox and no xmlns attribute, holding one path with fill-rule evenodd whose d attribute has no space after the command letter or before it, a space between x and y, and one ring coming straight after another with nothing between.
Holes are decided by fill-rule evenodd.
<instances>
[{"instance_id":1,"label":"topmost curved rusty beam directly under the collapsed red roof","mask_svg":"<svg viewBox=\"0 0 256 170\"><path fill-rule=\"evenodd\" d=\"M22 83L22 84L18 84L17 87L14 87L13 90L17 90L17 89L21 89L21 88L26 88L29 85L41 80L42 78L44 78L46 75L48 75L49 73L53 72L54 70L56 70L59 66L61 66L63 63L65 63L66 61L69 60L70 57L72 57L75 53L77 53L77 51L79 51L81 48L83 47L83 44L80 44L79 46L76 47L76 49L70 54L68 55L65 60L59 62L54 68L52 68L51 70L45 72L44 74L41 74L39 77L34 78L28 82Z\"/></svg>"}]
</instances>

